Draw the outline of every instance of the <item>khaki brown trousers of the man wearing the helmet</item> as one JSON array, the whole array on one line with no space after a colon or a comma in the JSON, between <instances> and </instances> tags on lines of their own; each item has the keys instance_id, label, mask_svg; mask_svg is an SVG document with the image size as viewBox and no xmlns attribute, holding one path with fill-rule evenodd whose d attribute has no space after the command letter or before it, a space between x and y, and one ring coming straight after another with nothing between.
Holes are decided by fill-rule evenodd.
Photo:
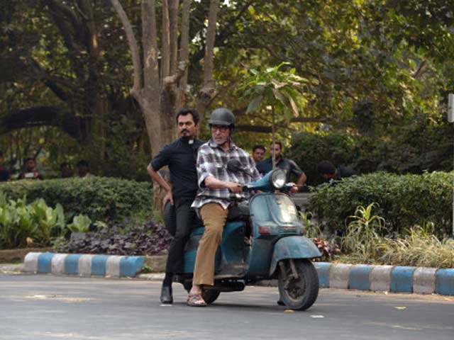
<instances>
[{"instance_id":1,"label":"khaki brown trousers of the man wearing the helmet","mask_svg":"<svg viewBox=\"0 0 454 340\"><path fill-rule=\"evenodd\" d=\"M226 224L228 209L218 203L206 203L200 208L201 220L205 232L197 249L194 267L194 285L214 285L214 260L216 250L222 241L222 232Z\"/></svg>"}]
</instances>

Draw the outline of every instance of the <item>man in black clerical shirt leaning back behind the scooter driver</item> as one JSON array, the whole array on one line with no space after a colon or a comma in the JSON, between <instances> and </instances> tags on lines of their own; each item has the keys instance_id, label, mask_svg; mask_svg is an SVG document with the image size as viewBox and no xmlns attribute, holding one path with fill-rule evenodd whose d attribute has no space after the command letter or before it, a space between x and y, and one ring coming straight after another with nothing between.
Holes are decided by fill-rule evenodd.
<instances>
[{"instance_id":1,"label":"man in black clerical shirt leaning back behind the scooter driver","mask_svg":"<svg viewBox=\"0 0 454 340\"><path fill-rule=\"evenodd\" d=\"M169 200L175 206L177 228L170 243L165 278L162 282L160 301L173 303L172 277L183 271L183 252L189 234L197 220L196 212L191 204L197 193L197 150L203 144L196 139L199 115L195 110L184 108L177 114L178 132L181 137L166 145L148 165L148 174L167 191L164 205ZM170 185L157 172L162 166L168 166Z\"/></svg>"}]
</instances>

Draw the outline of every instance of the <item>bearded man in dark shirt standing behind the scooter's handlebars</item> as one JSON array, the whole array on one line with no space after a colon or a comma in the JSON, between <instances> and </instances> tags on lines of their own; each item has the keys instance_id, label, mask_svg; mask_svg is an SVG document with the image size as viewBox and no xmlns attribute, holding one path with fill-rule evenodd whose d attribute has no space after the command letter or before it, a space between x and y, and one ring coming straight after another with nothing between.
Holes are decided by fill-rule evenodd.
<instances>
[{"instance_id":1,"label":"bearded man in dark shirt standing behind the scooter's handlebars","mask_svg":"<svg viewBox=\"0 0 454 340\"><path fill-rule=\"evenodd\" d=\"M292 174L297 176L297 185L301 186L306 181L306 174L299 169L299 166L292 161L292 159L282 157L282 142L275 142L275 145L271 143L270 145L270 154L271 157L265 159L265 161L257 164L257 169L260 174L265 175L272 170L272 152L275 152L276 167L284 170L287 176L287 182L290 181L290 176Z\"/></svg>"}]
</instances>

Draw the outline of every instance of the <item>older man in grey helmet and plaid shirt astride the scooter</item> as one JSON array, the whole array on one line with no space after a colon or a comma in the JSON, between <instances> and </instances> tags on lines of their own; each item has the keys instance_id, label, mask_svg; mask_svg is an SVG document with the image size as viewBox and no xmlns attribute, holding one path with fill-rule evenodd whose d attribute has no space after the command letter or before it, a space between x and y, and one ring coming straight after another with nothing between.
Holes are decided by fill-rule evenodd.
<instances>
[{"instance_id":1,"label":"older man in grey helmet and plaid shirt astride the scooter","mask_svg":"<svg viewBox=\"0 0 454 340\"><path fill-rule=\"evenodd\" d=\"M187 304L192 307L206 306L201 297L203 285L214 285L214 260L222 239L223 227L233 201L247 200L241 184L260 179L255 162L248 152L240 149L231 139L235 128L235 116L227 108L218 108L211 113L209 126L211 139L199 147L197 176L199 191L192 207L198 210L204 222L205 232L199 242L192 289ZM228 171L227 162L237 159L242 169ZM249 173L248 176L245 173Z\"/></svg>"}]
</instances>

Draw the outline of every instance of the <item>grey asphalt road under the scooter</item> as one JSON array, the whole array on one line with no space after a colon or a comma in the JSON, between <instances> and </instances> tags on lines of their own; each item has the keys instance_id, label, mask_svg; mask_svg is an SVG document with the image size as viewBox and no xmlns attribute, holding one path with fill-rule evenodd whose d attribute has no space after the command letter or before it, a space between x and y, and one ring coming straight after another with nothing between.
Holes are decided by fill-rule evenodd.
<instances>
[{"instance_id":1,"label":"grey asphalt road under the scooter","mask_svg":"<svg viewBox=\"0 0 454 340\"><path fill-rule=\"evenodd\" d=\"M209 307L157 301L145 280L0 274L0 339L454 339L454 297L323 289L315 305L275 305L277 288L221 293Z\"/></svg>"}]
</instances>

